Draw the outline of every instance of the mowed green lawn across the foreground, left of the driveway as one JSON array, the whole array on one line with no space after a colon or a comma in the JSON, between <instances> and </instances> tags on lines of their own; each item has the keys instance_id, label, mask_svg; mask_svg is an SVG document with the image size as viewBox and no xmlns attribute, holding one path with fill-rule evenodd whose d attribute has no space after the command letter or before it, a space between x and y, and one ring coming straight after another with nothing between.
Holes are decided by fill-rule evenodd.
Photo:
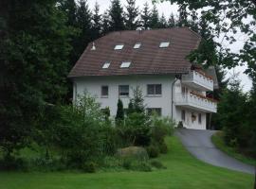
<instances>
[{"instance_id":1,"label":"mowed green lawn across the foreground, left of the driveway","mask_svg":"<svg viewBox=\"0 0 256 189\"><path fill-rule=\"evenodd\" d=\"M169 152L158 158L167 169L153 172L83 174L1 172L1 189L250 189L254 177L194 159L178 139L167 138Z\"/></svg>"}]
</instances>

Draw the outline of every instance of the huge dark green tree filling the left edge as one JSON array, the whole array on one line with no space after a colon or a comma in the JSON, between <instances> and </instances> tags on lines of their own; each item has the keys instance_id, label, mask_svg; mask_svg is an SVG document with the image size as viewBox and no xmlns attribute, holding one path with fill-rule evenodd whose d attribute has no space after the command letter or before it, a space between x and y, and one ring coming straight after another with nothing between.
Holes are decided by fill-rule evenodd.
<instances>
[{"instance_id":1,"label":"huge dark green tree filling the left edge","mask_svg":"<svg viewBox=\"0 0 256 189\"><path fill-rule=\"evenodd\" d=\"M1 3L0 146L10 154L66 93L71 31L55 0Z\"/></svg>"}]
</instances>

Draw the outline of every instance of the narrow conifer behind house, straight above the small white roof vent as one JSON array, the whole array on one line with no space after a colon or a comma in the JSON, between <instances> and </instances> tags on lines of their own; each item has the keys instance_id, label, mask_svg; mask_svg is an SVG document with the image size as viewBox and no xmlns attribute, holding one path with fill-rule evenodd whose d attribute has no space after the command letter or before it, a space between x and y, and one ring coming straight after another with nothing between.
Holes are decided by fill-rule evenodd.
<instances>
[{"instance_id":1,"label":"narrow conifer behind house, straight above the small white roof vent","mask_svg":"<svg viewBox=\"0 0 256 189\"><path fill-rule=\"evenodd\" d=\"M98 2L95 3L93 16L92 16L92 34L93 34L93 40L96 40L100 38L101 36L101 14L100 11L100 5Z\"/></svg>"}]
</instances>

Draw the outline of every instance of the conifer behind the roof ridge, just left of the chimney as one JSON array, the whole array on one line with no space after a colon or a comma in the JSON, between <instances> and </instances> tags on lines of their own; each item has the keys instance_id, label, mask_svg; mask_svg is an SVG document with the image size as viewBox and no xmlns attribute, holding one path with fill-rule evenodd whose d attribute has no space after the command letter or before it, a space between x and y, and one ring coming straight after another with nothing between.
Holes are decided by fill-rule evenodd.
<instances>
[{"instance_id":1,"label":"conifer behind the roof ridge, just left of the chimney","mask_svg":"<svg viewBox=\"0 0 256 189\"><path fill-rule=\"evenodd\" d=\"M129 30L135 30L138 27L136 0L126 0L126 2L128 5L125 13L125 27Z\"/></svg>"}]
</instances>

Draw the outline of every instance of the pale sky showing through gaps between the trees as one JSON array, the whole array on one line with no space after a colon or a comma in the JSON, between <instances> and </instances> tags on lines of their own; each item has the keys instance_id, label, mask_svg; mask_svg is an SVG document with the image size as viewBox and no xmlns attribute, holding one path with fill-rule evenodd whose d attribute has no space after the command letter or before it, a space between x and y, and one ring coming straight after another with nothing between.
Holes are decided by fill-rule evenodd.
<instances>
[{"instance_id":1,"label":"pale sky showing through gaps between the trees","mask_svg":"<svg viewBox=\"0 0 256 189\"><path fill-rule=\"evenodd\" d=\"M94 8L94 5L96 2L98 2L100 4L100 11L101 13L108 9L110 6L110 0L87 0L90 9ZM124 7L126 5L126 0L120 0L122 6ZM137 0L137 7L139 7L139 9L143 8L143 5L148 2L149 6L152 8L152 0ZM162 14L165 15L165 17L168 19L170 14L173 12L174 15L178 14L178 7L176 5L171 5L170 2L163 2L163 3L157 3L156 4L156 8L158 9L159 15L161 16ZM237 34L240 35L240 34ZM242 35L241 35L242 36ZM243 36L239 37L239 40L236 43L233 43L232 45L229 45L228 43L223 43L224 45L229 45L229 48L231 49L232 52L238 52L244 44L244 39ZM219 40L219 39L217 39ZM239 78L241 79L241 86L243 86L243 90L245 92L248 92L252 86L251 84L251 80L249 77L247 77L247 75L244 74L244 71L247 69L247 66L237 66L236 68L233 68L231 70L227 70L228 74L227 77L232 76L234 73L239 73Z\"/></svg>"}]
</instances>

